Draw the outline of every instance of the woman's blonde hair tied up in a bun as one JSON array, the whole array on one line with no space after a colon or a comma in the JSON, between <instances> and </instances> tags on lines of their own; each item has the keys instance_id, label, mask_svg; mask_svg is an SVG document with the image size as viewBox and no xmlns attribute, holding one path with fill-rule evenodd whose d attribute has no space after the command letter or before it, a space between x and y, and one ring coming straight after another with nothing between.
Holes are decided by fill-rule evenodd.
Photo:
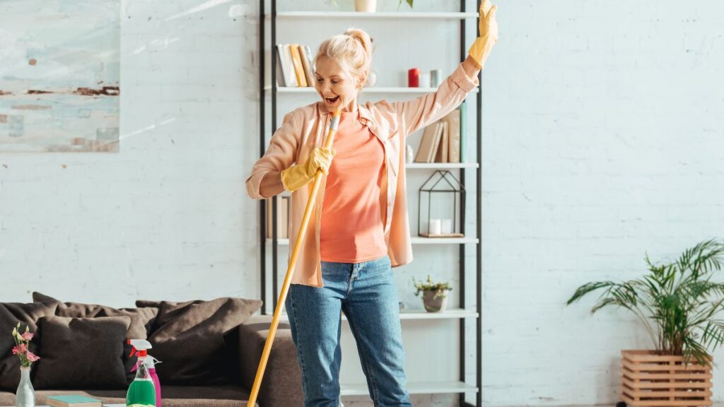
<instances>
[{"instance_id":1,"label":"woman's blonde hair tied up in a bun","mask_svg":"<svg viewBox=\"0 0 724 407\"><path fill-rule=\"evenodd\" d=\"M351 77L367 80L372 62L372 38L363 30L350 28L319 45L314 64L325 56L340 64ZM364 85L364 83L362 83Z\"/></svg>"}]
</instances>

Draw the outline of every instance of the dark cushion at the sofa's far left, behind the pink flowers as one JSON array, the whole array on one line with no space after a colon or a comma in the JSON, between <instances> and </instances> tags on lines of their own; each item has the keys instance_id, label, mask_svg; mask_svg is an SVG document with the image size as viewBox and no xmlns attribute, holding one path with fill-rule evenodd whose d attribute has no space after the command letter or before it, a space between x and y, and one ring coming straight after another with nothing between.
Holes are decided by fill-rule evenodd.
<instances>
[{"instance_id":1,"label":"dark cushion at the sofa's far left, behind the pink flowers","mask_svg":"<svg viewBox=\"0 0 724 407\"><path fill-rule=\"evenodd\" d=\"M38 319L46 315L53 315L56 304L46 303L0 303L0 389L16 390L20 383L20 359L12 354L15 341L12 339L12 328L20 322L20 331L25 327L30 331L38 330ZM34 337L30 341L30 351L37 354L40 338Z\"/></svg>"}]
</instances>

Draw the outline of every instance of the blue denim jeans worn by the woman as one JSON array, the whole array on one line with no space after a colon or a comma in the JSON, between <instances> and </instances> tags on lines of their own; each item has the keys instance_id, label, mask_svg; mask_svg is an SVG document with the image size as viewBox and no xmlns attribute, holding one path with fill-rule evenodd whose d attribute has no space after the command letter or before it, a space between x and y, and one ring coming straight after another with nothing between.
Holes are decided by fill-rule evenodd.
<instances>
[{"instance_id":1,"label":"blue denim jeans worn by the woman","mask_svg":"<svg viewBox=\"0 0 724 407\"><path fill-rule=\"evenodd\" d=\"M304 406L337 407L340 403L344 311L374 406L411 407L390 258L356 264L322 261L321 278L322 288L290 285L285 301L302 371Z\"/></svg>"}]
</instances>

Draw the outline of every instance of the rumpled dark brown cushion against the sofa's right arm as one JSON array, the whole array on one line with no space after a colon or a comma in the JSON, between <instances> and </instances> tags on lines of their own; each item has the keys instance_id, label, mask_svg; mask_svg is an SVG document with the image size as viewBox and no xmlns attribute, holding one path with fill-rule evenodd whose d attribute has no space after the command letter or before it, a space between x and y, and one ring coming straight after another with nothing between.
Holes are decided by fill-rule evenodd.
<instances>
[{"instance_id":1,"label":"rumpled dark brown cushion against the sofa's right arm","mask_svg":"<svg viewBox=\"0 0 724 407\"><path fill-rule=\"evenodd\" d=\"M151 301L146 301L146 304ZM261 308L261 301L216 298L211 301L159 301L159 315L148 341L161 383L176 385L230 382L235 363L224 337ZM238 366L236 366L238 368Z\"/></svg>"}]
</instances>

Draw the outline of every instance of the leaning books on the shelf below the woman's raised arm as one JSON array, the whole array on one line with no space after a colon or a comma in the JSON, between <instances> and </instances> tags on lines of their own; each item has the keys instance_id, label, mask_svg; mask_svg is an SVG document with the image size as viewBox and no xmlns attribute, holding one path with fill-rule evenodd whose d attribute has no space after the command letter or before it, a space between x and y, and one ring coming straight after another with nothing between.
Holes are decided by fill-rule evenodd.
<instances>
[{"instance_id":1,"label":"leaning books on the shelf below the woman's raised arm","mask_svg":"<svg viewBox=\"0 0 724 407\"><path fill-rule=\"evenodd\" d=\"M425 127L415 162L463 161L465 104Z\"/></svg>"}]
</instances>

